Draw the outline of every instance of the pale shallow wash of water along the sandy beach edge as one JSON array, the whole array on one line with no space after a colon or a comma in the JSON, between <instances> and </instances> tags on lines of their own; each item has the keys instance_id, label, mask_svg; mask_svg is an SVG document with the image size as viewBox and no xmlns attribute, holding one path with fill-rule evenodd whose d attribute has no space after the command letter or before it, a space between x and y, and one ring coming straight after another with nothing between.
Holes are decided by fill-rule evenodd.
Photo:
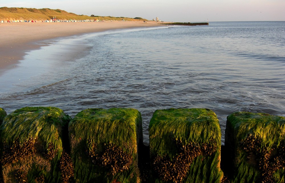
<instances>
[{"instance_id":1,"label":"pale shallow wash of water along the sandy beach edge","mask_svg":"<svg viewBox=\"0 0 285 183\"><path fill-rule=\"evenodd\" d=\"M0 92L32 90L45 85L52 80L55 70L69 67L76 59L88 54L88 39L106 34L117 34L124 32L165 29L168 27L147 27L108 30L70 36L38 42L38 50L26 52L23 60L15 65L13 69L7 69L0 75Z\"/></svg>"}]
</instances>

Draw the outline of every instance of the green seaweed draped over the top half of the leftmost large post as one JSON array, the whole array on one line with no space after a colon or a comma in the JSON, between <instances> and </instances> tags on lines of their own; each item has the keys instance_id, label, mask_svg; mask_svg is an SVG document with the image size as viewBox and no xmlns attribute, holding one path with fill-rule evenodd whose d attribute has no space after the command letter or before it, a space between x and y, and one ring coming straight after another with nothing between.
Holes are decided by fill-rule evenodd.
<instances>
[{"instance_id":1,"label":"green seaweed draped over the top half of the leftmost large post","mask_svg":"<svg viewBox=\"0 0 285 183\"><path fill-rule=\"evenodd\" d=\"M59 129L71 118L56 107L23 107L6 116L0 127L1 140L11 145L15 139L23 143L38 138L45 146L62 147Z\"/></svg>"}]
</instances>

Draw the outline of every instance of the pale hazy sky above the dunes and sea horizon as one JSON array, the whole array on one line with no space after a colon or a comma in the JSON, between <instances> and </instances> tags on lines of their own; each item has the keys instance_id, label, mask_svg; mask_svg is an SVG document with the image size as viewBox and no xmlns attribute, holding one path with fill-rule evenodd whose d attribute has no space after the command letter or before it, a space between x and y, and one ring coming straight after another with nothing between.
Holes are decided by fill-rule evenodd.
<instances>
[{"instance_id":1,"label":"pale hazy sky above the dunes and sea horizon","mask_svg":"<svg viewBox=\"0 0 285 183\"><path fill-rule=\"evenodd\" d=\"M0 7L148 20L158 17L169 22L285 21L285 0L0 0Z\"/></svg>"}]
</instances>

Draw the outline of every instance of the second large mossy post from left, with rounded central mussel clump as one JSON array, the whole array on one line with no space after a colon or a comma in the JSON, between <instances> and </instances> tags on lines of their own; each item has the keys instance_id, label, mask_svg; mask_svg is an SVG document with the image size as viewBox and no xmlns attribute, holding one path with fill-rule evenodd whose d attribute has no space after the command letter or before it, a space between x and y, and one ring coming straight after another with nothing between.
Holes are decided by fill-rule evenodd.
<instances>
[{"instance_id":1,"label":"second large mossy post from left, with rounded central mussel clump","mask_svg":"<svg viewBox=\"0 0 285 183\"><path fill-rule=\"evenodd\" d=\"M77 182L140 182L141 113L131 108L86 109L69 123Z\"/></svg>"}]
</instances>

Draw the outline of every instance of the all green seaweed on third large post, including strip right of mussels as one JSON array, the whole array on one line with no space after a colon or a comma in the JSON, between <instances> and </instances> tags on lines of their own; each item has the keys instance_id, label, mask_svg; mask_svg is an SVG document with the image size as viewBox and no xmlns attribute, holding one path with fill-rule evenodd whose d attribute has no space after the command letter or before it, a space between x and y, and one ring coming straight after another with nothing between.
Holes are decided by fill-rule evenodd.
<instances>
[{"instance_id":1,"label":"all green seaweed on third large post, including strip right of mussels","mask_svg":"<svg viewBox=\"0 0 285 183\"><path fill-rule=\"evenodd\" d=\"M180 149L188 143L193 142L198 149L204 145L215 147L210 154L197 150L193 162L190 161L191 165L183 182L221 181L223 177L220 169L221 130L213 111L173 108L156 110L149 124L149 141L151 159L166 157L172 164L175 163L175 158L180 156ZM157 178L155 182L164 181Z\"/></svg>"}]
</instances>

